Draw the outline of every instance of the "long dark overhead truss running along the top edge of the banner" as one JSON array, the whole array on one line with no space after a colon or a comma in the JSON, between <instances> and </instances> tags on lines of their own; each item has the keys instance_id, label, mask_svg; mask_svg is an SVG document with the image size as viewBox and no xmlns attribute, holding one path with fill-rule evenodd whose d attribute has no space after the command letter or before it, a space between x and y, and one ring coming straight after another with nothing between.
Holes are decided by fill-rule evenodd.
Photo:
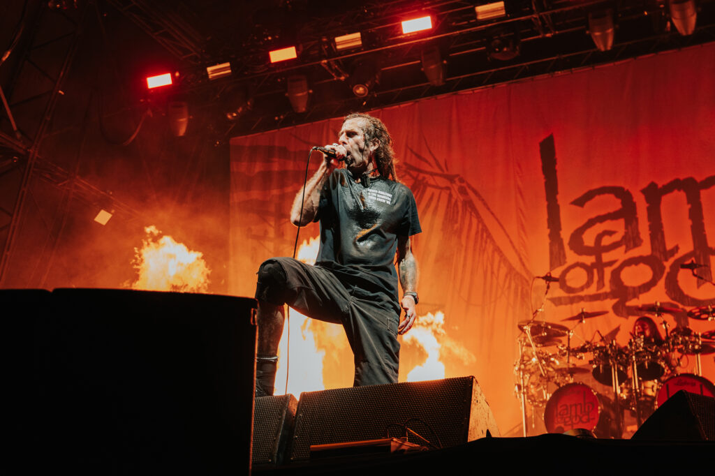
<instances>
[{"instance_id":1,"label":"long dark overhead truss running along the top edge of the banner","mask_svg":"<svg viewBox=\"0 0 715 476\"><path fill-rule=\"evenodd\" d=\"M602 2L591 2L591 4L598 3ZM584 23L585 17L581 15L583 11L577 15L578 9L573 4L548 14L542 13L538 17L531 16L531 24L523 18L507 19L503 23L511 22L521 28L521 54L516 59L511 61L490 59L483 35L450 36L448 46L445 48L447 51L445 61L448 66L443 86L433 86L428 83L420 71L418 54L403 48L398 50L398 54L383 56L383 64L385 57L388 61L393 59L391 64L383 66L383 76L390 77L368 97L356 98L350 94L332 94L332 97L323 95L321 99L313 101L302 114L295 113L290 109L287 101L282 101L282 109L276 107L261 111L256 108L254 114L247 115L230 132L232 135L252 134L327 119L349 111L374 109L429 96L493 86L535 76L553 75L561 71L573 71L599 64L612 64L661 51L709 43L715 41L714 7L711 2L701 9L699 26L694 34L687 37L680 36L675 31L654 31L651 28L652 16L649 18L643 14L643 11L623 9L618 17L621 28L616 34L616 42L610 51L596 49L588 36ZM658 13L658 11L654 12L654 14ZM475 26L475 31L480 28ZM390 48L396 46L383 46L383 50ZM302 69L301 66L293 66L293 68L297 71L306 71L305 66L302 66ZM271 81L271 79L280 79L281 74L285 75L286 71L274 71L262 77L260 86L253 89L256 103L285 96L285 89L282 89L280 81L278 84ZM315 92L326 84L335 82L337 81L334 78L325 77L320 81L314 81L312 89ZM313 96L315 97L316 94Z\"/></svg>"}]
</instances>

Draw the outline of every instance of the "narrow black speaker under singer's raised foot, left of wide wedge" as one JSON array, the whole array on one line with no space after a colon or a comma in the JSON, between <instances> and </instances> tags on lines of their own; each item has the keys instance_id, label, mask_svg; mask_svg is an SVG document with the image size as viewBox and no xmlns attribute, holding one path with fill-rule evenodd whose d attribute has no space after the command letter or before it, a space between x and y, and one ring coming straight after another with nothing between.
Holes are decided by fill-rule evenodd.
<instances>
[{"instance_id":1,"label":"narrow black speaker under singer's raised foot, left of wide wedge","mask_svg":"<svg viewBox=\"0 0 715 476\"><path fill-rule=\"evenodd\" d=\"M292 395L257 397L253 412L253 467L274 467L285 459L293 436L298 401Z\"/></svg>"}]
</instances>

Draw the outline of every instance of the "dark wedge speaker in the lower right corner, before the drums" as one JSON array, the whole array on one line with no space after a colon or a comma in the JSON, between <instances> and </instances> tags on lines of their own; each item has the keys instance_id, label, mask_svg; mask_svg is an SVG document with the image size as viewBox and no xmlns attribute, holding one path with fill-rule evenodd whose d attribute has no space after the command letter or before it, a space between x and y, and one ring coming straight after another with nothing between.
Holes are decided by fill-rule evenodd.
<instances>
[{"instance_id":1,"label":"dark wedge speaker in the lower right corner, before the drums","mask_svg":"<svg viewBox=\"0 0 715 476\"><path fill-rule=\"evenodd\" d=\"M680 390L638 428L631 440L715 441L715 398Z\"/></svg>"}]
</instances>

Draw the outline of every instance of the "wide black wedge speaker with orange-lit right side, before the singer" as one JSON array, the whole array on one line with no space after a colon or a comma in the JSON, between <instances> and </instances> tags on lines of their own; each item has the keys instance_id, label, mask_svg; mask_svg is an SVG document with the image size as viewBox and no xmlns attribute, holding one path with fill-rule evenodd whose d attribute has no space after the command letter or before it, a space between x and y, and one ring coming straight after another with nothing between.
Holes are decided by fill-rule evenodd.
<instances>
[{"instance_id":1,"label":"wide black wedge speaker with orange-lit right side, before the singer","mask_svg":"<svg viewBox=\"0 0 715 476\"><path fill-rule=\"evenodd\" d=\"M406 434L420 445L450 447L499 430L474 377L304 392L290 461L309 459L310 445Z\"/></svg>"}]
</instances>

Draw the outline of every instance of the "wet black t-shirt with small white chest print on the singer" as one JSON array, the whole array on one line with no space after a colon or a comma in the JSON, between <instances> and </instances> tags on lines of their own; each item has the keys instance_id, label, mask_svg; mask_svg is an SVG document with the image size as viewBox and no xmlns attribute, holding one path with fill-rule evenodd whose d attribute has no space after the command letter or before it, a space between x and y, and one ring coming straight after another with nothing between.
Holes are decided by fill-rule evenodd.
<instances>
[{"instance_id":1,"label":"wet black t-shirt with small white chest print on the singer","mask_svg":"<svg viewBox=\"0 0 715 476\"><path fill-rule=\"evenodd\" d=\"M384 177L370 177L367 184L355 183L347 169L335 169L328 177L315 217L320 220L315 264L363 290L371 288L376 299L387 299L400 312L395 252L398 237L422 232L415 197L405 185Z\"/></svg>"}]
</instances>

